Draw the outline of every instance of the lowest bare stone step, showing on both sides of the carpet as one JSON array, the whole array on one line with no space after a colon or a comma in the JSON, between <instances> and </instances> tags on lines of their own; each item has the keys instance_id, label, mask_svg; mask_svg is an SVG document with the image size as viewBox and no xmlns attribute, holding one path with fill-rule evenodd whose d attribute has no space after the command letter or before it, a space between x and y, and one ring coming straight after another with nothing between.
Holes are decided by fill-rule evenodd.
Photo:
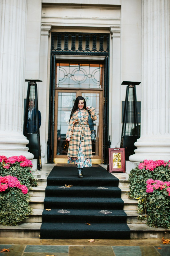
<instances>
[{"instance_id":1,"label":"lowest bare stone step, showing on both sides of the carpet","mask_svg":"<svg viewBox=\"0 0 170 256\"><path fill-rule=\"evenodd\" d=\"M146 224L132 223L128 224L130 228L130 239L148 239L148 238L170 238L170 230L164 228L153 228ZM41 223L26 222L18 226L0 225L0 237L40 237Z\"/></svg>"}]
</instances>

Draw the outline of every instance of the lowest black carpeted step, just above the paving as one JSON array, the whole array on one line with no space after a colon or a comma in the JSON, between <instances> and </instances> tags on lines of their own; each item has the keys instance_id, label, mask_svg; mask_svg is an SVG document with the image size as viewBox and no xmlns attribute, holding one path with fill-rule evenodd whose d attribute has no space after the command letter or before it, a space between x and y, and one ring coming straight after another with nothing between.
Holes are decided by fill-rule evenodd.
<instances>
[{"instance_id":1,"label":"lowest black carpeted step, just above the paving","mask_svg":"<svg viewBox=\"0 0 170 256\"><path fill-rule=\"evenodd\" d=\"M129 239L126 223L42 223L41 239Z\"/></svg>"}]
</instances>

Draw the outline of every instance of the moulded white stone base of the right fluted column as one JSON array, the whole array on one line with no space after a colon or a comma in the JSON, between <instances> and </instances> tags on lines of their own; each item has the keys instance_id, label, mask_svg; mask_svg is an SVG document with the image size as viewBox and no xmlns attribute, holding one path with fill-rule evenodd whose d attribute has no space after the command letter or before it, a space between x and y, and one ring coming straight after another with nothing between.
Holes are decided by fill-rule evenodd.
<instances>
[{"instance_id":1,"label":"moulded white stone base of the right fluted column","mask_svg":"<svg viewBox=\"0 0 170 256\"><path fill-rule=\"evenodd\" d=\"M140 139L139 139L140 140ZM135 154L129 156L129 161L141 162L147 160L170 160L170 139L166 141L137 141Z\"/></svg>"}]
</instances>

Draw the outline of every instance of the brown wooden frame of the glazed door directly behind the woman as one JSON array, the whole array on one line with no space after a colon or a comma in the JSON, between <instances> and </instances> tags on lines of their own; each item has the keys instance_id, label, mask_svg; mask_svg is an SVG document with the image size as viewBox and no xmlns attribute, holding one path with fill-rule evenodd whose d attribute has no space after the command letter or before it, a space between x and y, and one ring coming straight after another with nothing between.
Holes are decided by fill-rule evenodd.
<instances>
[{"instance_id":1,"label":"brown wooden frame of the glazed door directly behind the woman","mask_svg":"<svg viewBox=\"0 0 170 256\"><path fill-rule=\"evenodd\" d=\"M82 93L99 93L99 120L103 119L103 89L82 89L82 88L55 88L55 117L54 117L54 163L67 163L67 155L56 155L57 151L57 120L58 120L58 92L75 92L76 97L81 96ZM56 121L55 121L56 120ZM102 163L102 143L103 143L103 125L99 129L99 155L93 155L92 163Z\"/></svg>"}]
</instances>

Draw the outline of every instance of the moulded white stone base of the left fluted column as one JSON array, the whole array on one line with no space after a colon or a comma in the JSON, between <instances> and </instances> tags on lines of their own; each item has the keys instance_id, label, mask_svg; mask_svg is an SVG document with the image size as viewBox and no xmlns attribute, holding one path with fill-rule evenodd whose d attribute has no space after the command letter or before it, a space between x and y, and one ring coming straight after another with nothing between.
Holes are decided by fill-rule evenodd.
<instances>
[{"instance_id":1,"label":"moulded white stone base of the left fluted column","mask_svg":"<svg viewBox=\"0 0 170 256\"><path fill-rule=\"evenodd\" d=\"M26 145L29 141L24 136L14 136L4 134L4 136L0 135L0 155L4 155L6 157L10 156L20 156L23 155L27 159L33 159L34 155L28 152L29 148Z\"/></svg>"}]
</instances>

